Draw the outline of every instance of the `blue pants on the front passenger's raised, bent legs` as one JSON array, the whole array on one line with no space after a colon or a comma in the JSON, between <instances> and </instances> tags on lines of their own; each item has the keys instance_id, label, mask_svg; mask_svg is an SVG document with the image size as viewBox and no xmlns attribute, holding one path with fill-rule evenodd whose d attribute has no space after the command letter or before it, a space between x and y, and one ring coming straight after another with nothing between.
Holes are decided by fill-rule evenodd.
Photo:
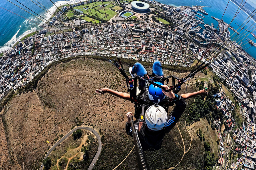
<instances>
[{"instance_id":1,"label":"blue pants on the front passenger's raised, bent legs","mask_svg":"<svg viewBox=\"0 0 256 170\"><path fill-rule=\"evenodd\" d=\"M164 72L160 61L154 62L152 72L158 76L164 76ZM136 73L138 76L143 77L145 74L147 74L147 70L141 63L136 62L132 67L132 73ZM139 86L140 88L143 88L145 86L145 81L139 81Z\"/></svg>"}]
</instances>

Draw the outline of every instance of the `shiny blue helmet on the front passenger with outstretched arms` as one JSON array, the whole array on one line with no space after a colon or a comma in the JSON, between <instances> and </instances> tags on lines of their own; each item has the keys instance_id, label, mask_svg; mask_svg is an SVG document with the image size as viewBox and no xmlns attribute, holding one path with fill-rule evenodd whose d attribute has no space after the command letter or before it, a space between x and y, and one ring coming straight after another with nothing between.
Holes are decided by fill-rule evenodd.
<instances>
[{"instance_id":1,"label":"shiny blue helmet on the front passenger with outstretched arms","mask_svg":"<svg viewBox=\"0 0 256 170\"><path fill-rule=\"evenodd\" d=\"M159 85L163 85L162 83L160 82L155 82L156 84L159 84ZM162 92L162 89L151 84L148 88L148 97L149 99L153 102L153 103L159 103L161 102L164 98L165 98L165 95L164 93Z\"/></svg>"}]
</instances>

